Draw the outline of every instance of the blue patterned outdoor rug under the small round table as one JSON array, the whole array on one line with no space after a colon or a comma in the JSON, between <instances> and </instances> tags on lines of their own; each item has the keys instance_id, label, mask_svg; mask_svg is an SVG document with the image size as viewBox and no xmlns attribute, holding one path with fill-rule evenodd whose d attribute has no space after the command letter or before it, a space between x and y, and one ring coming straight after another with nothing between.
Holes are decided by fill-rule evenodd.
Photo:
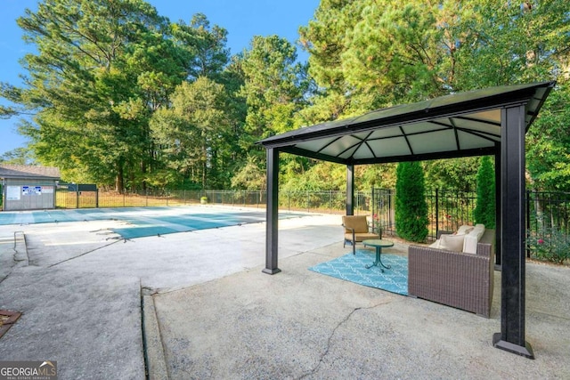
<instances>
[{"instance_id":1,"label":"blue patterned outdoor rug under the small round table","mask_svg":"<svg viewBox=\"0 0 570 380\"><path fill-rule=\"evenodd\" d=\"M382 263L391 267L385 269L384 273L377 266L365 268L365 265L373 263L375 258L373 251L357 250L356 255L351 252L330 262L317 264L309 268L309 271L346 279L366 287L377 287L398 295L408 295L408 258L382 254Z\"/></svg>"}]
</instances>

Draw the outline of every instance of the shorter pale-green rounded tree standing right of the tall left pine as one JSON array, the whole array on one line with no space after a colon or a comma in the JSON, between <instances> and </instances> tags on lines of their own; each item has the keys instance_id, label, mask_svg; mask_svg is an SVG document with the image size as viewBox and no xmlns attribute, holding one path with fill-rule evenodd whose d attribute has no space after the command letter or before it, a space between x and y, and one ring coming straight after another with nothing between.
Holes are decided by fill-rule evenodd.
<instances>
[{"instance_id":1,"label":"shorter pale-green rounded tree standing right of the tall left pine","mask_svg":"<svg viewBox=\"0 0 570 380\"><path fill-rule=\"evenodd\" d=\"M172 171L171 180L165 173L154 174L152 181L176 185L189 180L201 189L214 189L216 175L224 166L232 166L224 144L232 140L229 120L224 112L224 86L207 77L183 82L172 98L172 106L159 109L152 117L151 129L155 144L160 147L159 160Z\"/></svg>"}]
</instances>

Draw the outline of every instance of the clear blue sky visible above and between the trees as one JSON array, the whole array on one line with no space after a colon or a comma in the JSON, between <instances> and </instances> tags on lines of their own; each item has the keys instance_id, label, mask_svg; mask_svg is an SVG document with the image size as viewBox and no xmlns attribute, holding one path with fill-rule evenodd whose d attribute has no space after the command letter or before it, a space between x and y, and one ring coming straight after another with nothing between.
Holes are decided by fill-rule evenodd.
<instances>
[{"instance_id":1,"label":"clear blue sky visible above and between the trees","mask_svg":"<svg viewBox=\"0 0 570 380\"><path fill-rule=\"evenodd\" d=\"M299 26L307 25L313 18L320 0L147 0L160 15L172 21L190 22L195 13L204 13L210 25L219 25L228 31L228 47L231 53L248 48L253 36L278 35L290 42L297 41ZM16 19L26 8L37 9L36 0L1 0L0 12L0 81L20 85L19 74L25 74L19 60L33 50L21 40L21 30ZM306 54L299 51L299 59ZM0 99L4 104L4 100ZM0 119L0 155L26 144L16 133L17 118Z\"/></svg>"}]
</instances>

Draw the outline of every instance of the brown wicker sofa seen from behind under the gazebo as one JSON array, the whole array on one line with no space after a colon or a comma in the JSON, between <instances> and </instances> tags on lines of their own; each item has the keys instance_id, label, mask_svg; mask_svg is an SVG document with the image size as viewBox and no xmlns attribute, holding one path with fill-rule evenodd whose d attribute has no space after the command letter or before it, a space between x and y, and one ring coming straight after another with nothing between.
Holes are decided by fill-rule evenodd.
<instances>
[{"instance_id":1,"label":"brown wicker sofa seen from behind under the gazebo","mask_svg":"<svg viewBox=\"0 0 570 380\"><path fill-rule=\"evenodd\" d=\"M408 294L489 318L494 238L494 230L485 230L476 243L476 254L410 246Z\"/></svg>"}]
</instances>

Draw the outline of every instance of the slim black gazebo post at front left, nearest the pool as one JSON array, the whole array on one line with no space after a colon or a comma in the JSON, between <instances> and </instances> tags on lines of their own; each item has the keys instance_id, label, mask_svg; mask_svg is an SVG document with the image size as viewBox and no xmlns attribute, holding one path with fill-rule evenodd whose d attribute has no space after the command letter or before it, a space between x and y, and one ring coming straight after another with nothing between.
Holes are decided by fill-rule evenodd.
<instances>
[{"instance_id":1,"label":"slim black gazebo post at front left, nearest the pool","mask_svg":"<svg viewBox=\"0 0 570 380\"><path fill-rule=\"evenodd\" d=\"M277 267L279 237L279 150L267 149L267 216L265 230L265 269L267 274L279 273Z\"/></svg>"}]
</instances>

